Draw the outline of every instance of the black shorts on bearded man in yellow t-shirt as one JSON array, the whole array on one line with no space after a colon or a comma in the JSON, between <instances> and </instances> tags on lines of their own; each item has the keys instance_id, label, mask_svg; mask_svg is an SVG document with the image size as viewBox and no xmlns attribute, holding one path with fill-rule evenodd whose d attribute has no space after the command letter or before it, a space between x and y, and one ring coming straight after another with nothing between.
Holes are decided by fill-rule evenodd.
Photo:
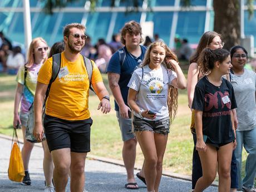
<instances>
[{"instance_id":1,"label":"black shorts on bearded man in yellow t-shirt","mask_svg":"<svg viewBox=\"0 0 256 192\"><path fill-rule=\"evenodd\" d=\"M87 153L90 149L92 119L65 120L45 115L43 127L50 152L70 148L72 152Z\"/></svg>"}]
</instances>

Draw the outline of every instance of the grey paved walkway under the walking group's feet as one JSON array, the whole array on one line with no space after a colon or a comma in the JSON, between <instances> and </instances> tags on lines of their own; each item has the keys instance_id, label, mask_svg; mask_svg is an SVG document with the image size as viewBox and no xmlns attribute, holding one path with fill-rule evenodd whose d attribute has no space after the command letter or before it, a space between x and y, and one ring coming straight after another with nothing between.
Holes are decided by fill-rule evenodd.
<instances>
[{"instance_id":1,"label":"grey paved walkway under the walking group's feet","mask_svg":"<svg viewBox=\"0 0 256 192\"><path fill-rule=\"evenodd\" d=\"M22 147L22 144L21 144ZM9 155L11 153L11 141L0 137L0 191L43 191L44 175L42 167L43 149L35 146L31 154L29 163L29 172L31 175L32 185L25 186L20 183L12 182L8 179ZM137 171L135 170L135 173ZM137 179L140 186L139 190L127 190L124 188L126 181L126 171L123 166L104 163L98 160L86 160L86 191L89 192L113 192L113 191L146 191L146 186ZM68 183L67 190L70 184ZM163 176L160 184L160 191L190 191L191 182L181 179L174 179ZM207 192L218 191L214 186L210 186Z\"/></svg>"}]
</instances>

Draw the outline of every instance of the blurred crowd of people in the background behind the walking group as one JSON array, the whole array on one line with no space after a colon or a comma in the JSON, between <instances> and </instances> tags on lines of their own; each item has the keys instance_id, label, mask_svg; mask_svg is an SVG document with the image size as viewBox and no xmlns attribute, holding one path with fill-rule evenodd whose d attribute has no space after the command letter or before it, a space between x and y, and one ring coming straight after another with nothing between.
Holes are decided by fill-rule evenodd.
<instances>
[{"instance_id":1,"label":"blurred crowd of people in the background behind the walking group","mask_svg":"<svg viewBox=\"0 0 256 192\"><path fill-rule=\"evenodd\" d=\"M104 38L99 38L95 45L91 43L91 37L86 35L85 46L81 50L81 54L85 57L95 61L97 67L101 73L106 73L109 60L118 49L124 47L121 43L120 33L113 34L110 42L106 42ZM142 42L143 46L148 47L154 41L163 41L159 34L154 34L154 38L146 36ZM195 49L189 43L188 39L180 38L178 34L174 38L175 47L172 49L177 55L179 60L188 61L191 55L195 52ZM3 32L0 32L0 73L7 73L10 75L16 75L19 67L24 64L26 54L22 46L13 46L11 41L4 36ZM256 68L254 60L252 59L252 65L246 65L246 68Z\"/></svg>"}]
</instances>

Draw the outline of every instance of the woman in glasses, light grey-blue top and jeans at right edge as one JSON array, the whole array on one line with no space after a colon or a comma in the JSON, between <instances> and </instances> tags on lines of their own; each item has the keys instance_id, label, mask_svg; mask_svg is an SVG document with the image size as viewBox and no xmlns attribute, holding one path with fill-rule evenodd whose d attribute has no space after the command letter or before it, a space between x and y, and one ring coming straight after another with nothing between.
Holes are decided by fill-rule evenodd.
<instances>
[{"instance_id":1,"label":"woman in glasses, light grey-blue top and jeans at right edge","mask_svg":"<svg viewBox=\"0 0 256 192\"><path fill-rule=\"evenodd\" d=\"M235 156L238 166L239 190L256 191L254 179L256 175L256 104L255 87L256 74L252 70L244 68L248 53L242 46L234 46L230 49L232 70L230 70L230 82L233 85L235 99L237 100L237 148ZM242 180L242 150L247 153L245 164L245 176Z\"/></svg>"}]
</instances>

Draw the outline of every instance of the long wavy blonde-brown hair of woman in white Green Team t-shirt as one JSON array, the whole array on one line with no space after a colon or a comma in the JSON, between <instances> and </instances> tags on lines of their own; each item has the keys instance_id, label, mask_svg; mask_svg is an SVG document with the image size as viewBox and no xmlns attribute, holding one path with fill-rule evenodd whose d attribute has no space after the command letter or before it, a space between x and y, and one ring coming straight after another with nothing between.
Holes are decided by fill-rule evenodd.
<instances>
[{"instance_id":1,"label":"long wavy blonde-brown hair of woman in white Green Team t-shirt","mask_svg":"<svg viewBox=\"0 0 256 192\"><path fill-rule=\"evenodd\" d=\"M166 62L166 59L173 59L178 62L178 58L175 55L174 52L171 51L171 49L166 46L166 44L163 41L155 41L150 44L150 46L147 48L147 51L145 53L144 60L142 61L140 67L144 67L145 65L148 65L150 63L150 52L152 47L155 46L161 46L165 49L165 59L164 62L162 63L166 69L171 69L175 71L173 65L171 65L170 62ZM168 99L167 99L167 105L169 109L169 118L170 118L170 124L173 122L175 119L175 116L177 114L178 110L178 89L175 88L173 85L169 85L168 87Z\"/></svg>"}]
</instances>

